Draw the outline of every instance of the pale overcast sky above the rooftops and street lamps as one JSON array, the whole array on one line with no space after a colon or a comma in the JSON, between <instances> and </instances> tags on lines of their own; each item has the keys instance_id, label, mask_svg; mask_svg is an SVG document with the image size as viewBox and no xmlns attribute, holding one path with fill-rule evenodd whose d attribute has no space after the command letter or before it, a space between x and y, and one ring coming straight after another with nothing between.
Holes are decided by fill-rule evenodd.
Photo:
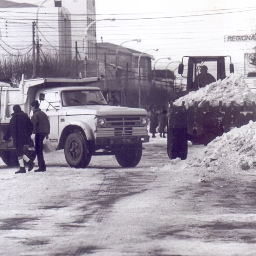
<instances>
[{"instance_id":1,"label":"pale overcast sky above the rooftops and street lamps","mask_svg":"<svg viewBox=\"0 0 256 256\"><path fill-rule=\"evenodd\" d=\"M15 0L39 5L43 0ZM69 8L80 0L63 0ZM83 0L86 1L86 0ZM115 17L116 21L98 21L97 41L123 44L147 51L155 59L184 55L230 55L238 73L244 73L244 53L254 42L224 42L224 36L255 32L255 0L95 0L96 19ZM54 6L53 0L44 6ZM54 8L54 7L53 7ZM165 69L171 61L159 60L156 69ZM154 64L154 63L153 63ZM173 66L172 66L173 65ZM168 67L174 69L177 63Z\"/></svg>"}]
</instances>

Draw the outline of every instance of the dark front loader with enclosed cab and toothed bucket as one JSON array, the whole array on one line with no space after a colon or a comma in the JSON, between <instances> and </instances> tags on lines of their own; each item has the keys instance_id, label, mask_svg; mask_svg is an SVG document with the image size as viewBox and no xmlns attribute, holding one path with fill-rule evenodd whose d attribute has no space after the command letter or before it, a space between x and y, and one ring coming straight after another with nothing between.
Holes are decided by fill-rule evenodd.
<instances>
[{"instance_id":1,"label":"dark front loader with enclosed cab and toothed bucket","mask_svg":"<svg viewBox=\"0 0 256 256\"><path fill-rule=\"evenodd\" d=\"M225 66L225 60L229 60L229 70ZM184 65L184 62L187 62ZM200 78L200 68L208 69L212 77L209 81L223 80L226 75L234 72L234 66L230 56L184 56L179 64L178 73L186 79L186 91L174 93L169 99L168 107L168 129L167 129L167 153L170 159L187 158L188 141L192 144L207 145L217 136L229 132L234 127L241 127L256 121L256 105L252 101L243 102L242 105L231 102L226 105L219 101L217 105L204 104L187 106L185 102L175 105L178 98L204 87L204 79ZM186 74L184 75L184 68ZM200 73L199 73L200 72Z\"/></svg>"}]
</instances>

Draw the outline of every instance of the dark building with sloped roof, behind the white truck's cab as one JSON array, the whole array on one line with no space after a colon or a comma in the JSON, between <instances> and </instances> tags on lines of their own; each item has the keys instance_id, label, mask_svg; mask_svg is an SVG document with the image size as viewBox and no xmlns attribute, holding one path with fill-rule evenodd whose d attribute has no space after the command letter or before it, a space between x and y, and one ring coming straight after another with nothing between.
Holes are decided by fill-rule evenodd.
<instances>
[{"instance_id":1,"label":"dark building with sloped roof, behind the white truck's cab","mask_svg":"<svg viewBox=\"0 0 256 256\"><path fill-rule=\"evenodd\" d=\"M122 105L128 107L139 107L140 90L141 106L149 108L151 103L148 97L153 78L151 61L154 57L111 43L98 43L97 53L98 73L102 77L100 87L111 91L120 102L125 102Z\"/></svg>"}]
</instances>

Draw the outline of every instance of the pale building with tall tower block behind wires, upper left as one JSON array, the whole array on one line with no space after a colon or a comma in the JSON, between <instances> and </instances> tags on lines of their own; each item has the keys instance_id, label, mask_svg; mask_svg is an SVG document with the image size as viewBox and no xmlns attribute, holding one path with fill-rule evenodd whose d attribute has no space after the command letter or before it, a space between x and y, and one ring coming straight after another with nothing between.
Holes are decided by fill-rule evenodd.
<instances>
[{"instance_id":1,"label":"pale building with tall tower block behind wires, upper left","mask_svg":"<svg viewBox=\"0 0 256 256\"><path fill-rule=\"evenodd\" d=\"M96 24L91 26L85 37L85 29L95 20L95 0L36 1L0 0L0 53L1 56L23 56L33 40L32 22L36 22L35 40L39 41L40 58L58 56L61 63L70 65L76 59L76 74L84 72L85 46L87 59L94 62L95 75L97 48ZM61 3L61 7L59 2ZM40 6L40 8L39 8ZM85 42L86 39L86 42ZM32 51L30 51L32 52Z\"/></svg>"}]
</instances>

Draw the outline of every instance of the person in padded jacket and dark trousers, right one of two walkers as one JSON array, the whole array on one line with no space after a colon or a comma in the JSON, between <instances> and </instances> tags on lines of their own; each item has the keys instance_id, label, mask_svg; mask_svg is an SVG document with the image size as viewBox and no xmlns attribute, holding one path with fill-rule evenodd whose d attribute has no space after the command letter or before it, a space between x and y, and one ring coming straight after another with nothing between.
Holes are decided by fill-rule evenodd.
<instances>
[{"instance_id":1,"label":"person in padded jacket and dark trousers, right one of two walkers","mask_svg":"<svg viewBox=\"0 0 256 256\"><path fill-rule=\"evenodd\" d=\"M46 165L43 155L43 141L45 138L49 139L50 122L48 116L39 108L38 101L33 101L30 105L33 111L31 122L33 124L33 134L35 134L35 149L38 161L38 169L35 172L45 172Z\"/></svg>"}]
</instances>

